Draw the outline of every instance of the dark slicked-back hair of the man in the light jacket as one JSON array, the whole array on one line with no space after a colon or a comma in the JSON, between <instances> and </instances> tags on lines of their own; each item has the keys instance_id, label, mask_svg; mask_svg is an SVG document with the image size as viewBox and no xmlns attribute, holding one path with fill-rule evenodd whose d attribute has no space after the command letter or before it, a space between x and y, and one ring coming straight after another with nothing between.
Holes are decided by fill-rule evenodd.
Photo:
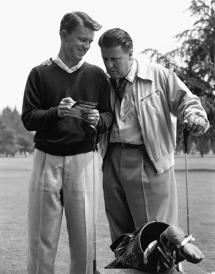
<instances>
[{"instance_id":1,"label":"dark slicked-back hair of the man in the light jacket","mask_svg":"<svg viewBox=\"0 0 215 274\"><path fill-rule=\"evenodd\" d=\"M109 29L98 41L100 48L109 49L111 47L122 47L124 51L128 52L130 49L133 49L133 41L128 32L123 29L115 28Z\"/></svg>"}]
</instances>

